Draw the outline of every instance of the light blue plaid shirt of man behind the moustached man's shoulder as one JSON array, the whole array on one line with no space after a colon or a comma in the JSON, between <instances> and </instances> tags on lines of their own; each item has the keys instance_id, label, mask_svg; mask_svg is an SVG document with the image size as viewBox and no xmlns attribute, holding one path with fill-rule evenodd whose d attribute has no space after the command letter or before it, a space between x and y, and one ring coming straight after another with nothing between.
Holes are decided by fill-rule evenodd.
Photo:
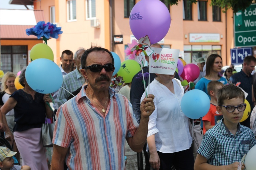
<instances>
[{"instance_id":1,"label":"light blue plaid shirt of man behind the moustached man's shoulder","mask_svg":"<svg viewBox=\"0 0 256 170\"><path fill-rule=\"evenodd\" d=\"M76 89L82 87L84 83L85 79L83 75L77 69L75 69L74 71L71 71L70 73L65 75L65 77L63 78L62 87L72 93ZM59 89L57 96L57 108L59 108L60 105L68 100L68 97L70 96L69 92L67 92L63 88Z\"/></svg>"}]
</instances>

